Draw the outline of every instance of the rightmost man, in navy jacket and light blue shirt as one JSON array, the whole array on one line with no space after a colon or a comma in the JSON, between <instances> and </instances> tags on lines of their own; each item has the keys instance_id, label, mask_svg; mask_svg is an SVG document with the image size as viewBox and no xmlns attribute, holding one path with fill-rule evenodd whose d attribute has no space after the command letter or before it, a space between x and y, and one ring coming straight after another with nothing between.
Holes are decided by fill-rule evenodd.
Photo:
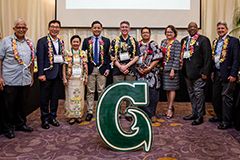
<instances>
[{"instance_id":1,"label":"rightmost man, in navy jacket and light blue shirt","mask_svg":"<svg viewBox=\"0 0 240 160\"><path fill-rule=\"evenodd\" d=\"M239 68L240 45L237 38L228 35L225 22L217 23L218 38L213 41L213 97L216 116L210 122L220 122L218 129L232 126L234 90Z\"/></svg>"}]
</instances>

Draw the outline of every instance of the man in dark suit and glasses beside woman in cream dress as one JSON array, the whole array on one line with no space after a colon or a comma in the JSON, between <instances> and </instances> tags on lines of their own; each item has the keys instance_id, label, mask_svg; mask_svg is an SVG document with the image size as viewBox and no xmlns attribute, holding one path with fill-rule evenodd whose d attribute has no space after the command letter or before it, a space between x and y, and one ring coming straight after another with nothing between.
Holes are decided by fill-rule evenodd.
<instances>
[{"instance_id":1,"label":"man in dark suit and glasses beside woman in cream dress","mask_svg":"<svg viewBox=\"0 0 240 160\"><path fill-rule=\"evenodd\" d=\"M58 38L60 27L60 21L50 21L49 34L39 39L37 43L41 126L44 129L49 129L49 123L56 127L60 125L56 120L59 87L62 83L62 63L64 62L64 42Z\"/></svg>"}]
</instances>

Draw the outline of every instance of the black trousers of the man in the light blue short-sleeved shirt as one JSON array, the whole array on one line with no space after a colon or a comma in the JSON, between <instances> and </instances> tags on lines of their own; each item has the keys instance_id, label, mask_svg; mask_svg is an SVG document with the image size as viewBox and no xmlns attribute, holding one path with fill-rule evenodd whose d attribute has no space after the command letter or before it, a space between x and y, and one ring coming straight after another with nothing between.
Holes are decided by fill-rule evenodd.
<instances>
[{"instance_id":1,"label":"black trousers of the man in the light blue short-sleeved shirt","mask_svg":"<svg viewBox=\"0 0 240 160\"><path fill-rule=\"evenodd\" d=\"M3 90L3 132L14 130L26 123L24 107L27 104L29 86L8 86Z\"/></svg>"}]
</instances>

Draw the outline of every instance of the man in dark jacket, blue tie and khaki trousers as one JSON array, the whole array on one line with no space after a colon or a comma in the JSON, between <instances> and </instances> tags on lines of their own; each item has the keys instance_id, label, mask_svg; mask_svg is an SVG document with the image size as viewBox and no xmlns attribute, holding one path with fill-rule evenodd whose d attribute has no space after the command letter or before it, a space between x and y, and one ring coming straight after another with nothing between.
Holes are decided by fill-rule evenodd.
<instances>
[{"instance_id":1,"label":"man in dark jacket, blue tie and khaki trousers","mask_svg":"<svg viewBox=\"0 0 240 160\"><path fill-rule=\"evenodd\" d=\"M94 21L91 25L93 35L85 38L82 50L88 56L88 84L87 84L87 116L86 121L91 121L94 108L94 93L97 83L97 92L100 95L106 86L106 77L110 72L109 47L110 40L101 36L102 23Z\"/></svg>"}]
</instances>

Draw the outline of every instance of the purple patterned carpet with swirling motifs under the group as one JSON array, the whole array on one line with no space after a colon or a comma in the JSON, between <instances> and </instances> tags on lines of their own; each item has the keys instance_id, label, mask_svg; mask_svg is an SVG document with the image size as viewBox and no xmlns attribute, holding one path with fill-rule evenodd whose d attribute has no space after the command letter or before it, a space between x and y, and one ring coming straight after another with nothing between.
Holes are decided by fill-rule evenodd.
<instances>
[{"instance_id":1,"label":"purple patterned carpet with swirling motifs under the group","mask_svg":"<svg viewBox=\"0 0 240 160\"><path fill-rule=\"evenodd\" d=\"M0 160L239 160L240 132L235 129L218 130L207 119L212 107L207 104L205 123L192 126L182 120L190 113L189 103L176 103L173 119L159 118L153 125L153 145L149 153L116 152L105 146L95 121L70 126L64 118L62 104L59 109L60 127L44 130L40 127L39 110L28 117L32 133L16 132L16 138L0 135ZM159 103L158 112L166 110ZM129 122L124 121L128 124ZM128 124L129 125L129 124Z\"/></svg>"}]
</instances>

